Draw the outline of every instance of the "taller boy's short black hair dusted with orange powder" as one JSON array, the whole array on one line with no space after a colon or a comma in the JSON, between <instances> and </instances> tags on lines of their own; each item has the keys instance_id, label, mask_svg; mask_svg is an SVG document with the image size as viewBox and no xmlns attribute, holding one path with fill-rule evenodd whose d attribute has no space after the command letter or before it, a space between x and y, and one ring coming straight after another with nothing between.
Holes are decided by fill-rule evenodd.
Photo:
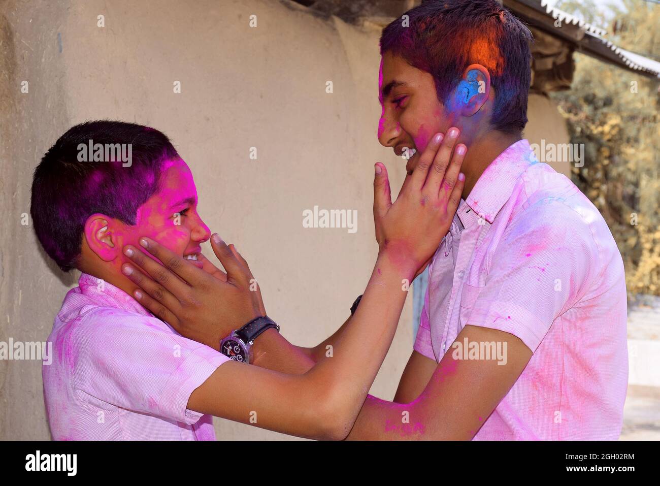
<instances>
[{"instance_id":1,"label":"taller boy's short black hair dusted with orange powder","mask_svg":"<svg viewBox=\"0 0 660 486\"><path fill-rule=\"evenodd\" d=\"M498 0L428 0L383 29L380 53L400 55L430 73L438 100L478 63L488 69L495 90L491 125L519 134L527 124L532 40L529 29Z\"/></svg>"}]
</instances>

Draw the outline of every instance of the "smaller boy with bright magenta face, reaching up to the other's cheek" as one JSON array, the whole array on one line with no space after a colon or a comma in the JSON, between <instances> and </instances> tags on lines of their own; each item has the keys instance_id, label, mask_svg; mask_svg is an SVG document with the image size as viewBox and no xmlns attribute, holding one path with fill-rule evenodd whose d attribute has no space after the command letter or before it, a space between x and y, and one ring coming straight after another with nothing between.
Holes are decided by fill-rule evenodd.
<instances>
[{"instance_id":1,"label":"smaller boy with bright magenta face, reaching up to the other's cheek","mask_svg":"<svg viewBox=\"0 0 660 486\"><path fill-rule=\"evenodd\" d=\"M131 144L128 163L112 155L122 143ZM84 160L81 148L87 145L111 149L104 160ZM430 143L426 158L432 164L421 164L395 204L387 171L376 164L380 251L341 352L307 366L306 355L270 327L255 341L288 359L255 353L253 364L246 364L219 352L219 334L204 326L175 329L141 304L147 296L135 281L142 273L128 265L129 259L147 258L138 248L150 252L154 265L180 271L184 280L200 271L205 283L197 278L198 285L221 285L232 305L214 309L216 324L235 326L265 316L260 293L249 290L247 263L217 234L211 238L199 217L193 176L169 139L118 121L69 129L34 172L30 209L46 253L64 271L82 271L48 339L53 362L42 368L53 438L213 440L211 415L308 438L344 438L391 344L407 295L402 281L413 279L451 224L465 155L461 145L451 156L453 147L453 141L439 138ZM446 170L436 170L440 166ZM201 254L209 238L227 273ZM156 278L163 287L152 289L150 304L158 298L176 308L165 289L186 284L161 277ZM188 289L178 305L199 306ZM164 316L158 309L156 314Z\"/></svg>"}]
</instances>

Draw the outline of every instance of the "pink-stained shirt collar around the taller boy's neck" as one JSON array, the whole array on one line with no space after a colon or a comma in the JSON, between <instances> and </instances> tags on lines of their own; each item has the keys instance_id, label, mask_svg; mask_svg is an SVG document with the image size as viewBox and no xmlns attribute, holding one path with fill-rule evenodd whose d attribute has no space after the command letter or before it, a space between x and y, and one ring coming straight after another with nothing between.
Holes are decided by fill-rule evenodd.
<instances>
[{"instance_id":1,"label":"pink-stained shirt collar around the taller boy's neck","mask_svg":"<svg viewBox=\"0 0 660 486\"><path fill-rule=\"evenodd\" d=\"M483 217L492 224L504 203L511 197L513 186L520 175L537 162L534 151L525 139L513 143L490 162L465 200L475 212L475 217Z\"/></svg>"}]
</instances>

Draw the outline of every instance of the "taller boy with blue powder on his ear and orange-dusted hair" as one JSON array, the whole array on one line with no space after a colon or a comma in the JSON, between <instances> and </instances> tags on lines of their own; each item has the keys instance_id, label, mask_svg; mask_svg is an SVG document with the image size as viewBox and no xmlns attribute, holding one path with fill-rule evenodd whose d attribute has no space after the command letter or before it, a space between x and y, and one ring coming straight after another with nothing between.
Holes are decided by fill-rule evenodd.
<instances>
[{"instance_id":1,"label":"taller boy with blue powder on his ear and orange-dusted hair","mask_svg":"<svg viewBox=\"0 0 660 486\"><path fill-rule=\"evenodd\" d=\"M628 378L623 262L596 207L523 139L530 40L497 0L428 0L383 29L378 139L408 156L404 188L428 164L434 134L469 154L399 388L393 401L368 396L348 438L618 439ZM228 304L223 289L199 287L195 273L186 281L200 306L145 305L182 329L230 333L213 322L218 302ZM336 355L353 321L300 351L312 363L325 345ZM279 343L258 345L278 356Z\"/></svg>"}]
</instances>

